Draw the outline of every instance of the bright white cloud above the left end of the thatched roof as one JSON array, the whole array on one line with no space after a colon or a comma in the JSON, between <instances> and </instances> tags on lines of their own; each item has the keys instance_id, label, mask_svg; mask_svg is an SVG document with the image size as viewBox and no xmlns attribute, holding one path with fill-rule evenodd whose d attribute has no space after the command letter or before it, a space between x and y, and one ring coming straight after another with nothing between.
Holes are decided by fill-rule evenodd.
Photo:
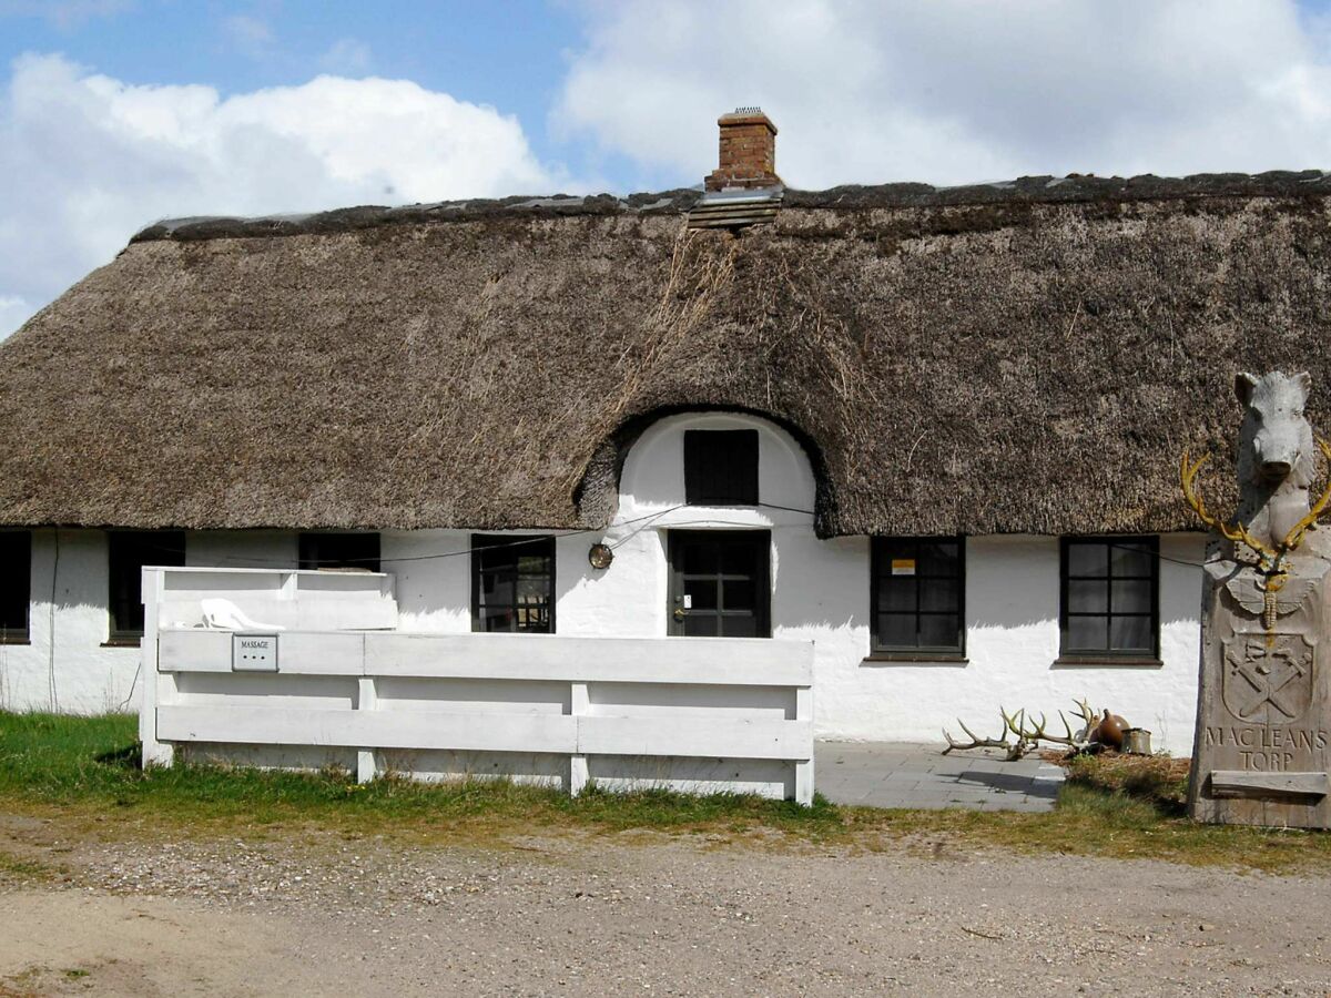
<instances>
[{"instance_id":1,"label":"bright white cloud above the left end of the thatched roof","mask_svg":"<svg viewBox=\"0 0 1331 998\"><path fill-rule=\"evenodd\" d=\"M0 337L169 216L309 212L567 188L492 108L321 76L222 98L24 56L0 94Z\"/></svg>"}]
</instances>

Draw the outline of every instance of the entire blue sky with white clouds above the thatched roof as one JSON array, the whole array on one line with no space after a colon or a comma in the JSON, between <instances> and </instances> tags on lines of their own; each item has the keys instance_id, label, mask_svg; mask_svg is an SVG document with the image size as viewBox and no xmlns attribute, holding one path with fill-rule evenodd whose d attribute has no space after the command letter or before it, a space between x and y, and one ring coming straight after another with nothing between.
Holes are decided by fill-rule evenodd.
<instances>
[{"instance_id":1,"label":"entire blue sky with white clouds above the thatched roof","mask_svg":"<svg viewBox=\"0 0 1331 998\"><path fill-rule=\"evenodd\" d=\"M160 218L1331 169L1331 0L0 0L0 338Z\"/></svg>"}]
</instances>

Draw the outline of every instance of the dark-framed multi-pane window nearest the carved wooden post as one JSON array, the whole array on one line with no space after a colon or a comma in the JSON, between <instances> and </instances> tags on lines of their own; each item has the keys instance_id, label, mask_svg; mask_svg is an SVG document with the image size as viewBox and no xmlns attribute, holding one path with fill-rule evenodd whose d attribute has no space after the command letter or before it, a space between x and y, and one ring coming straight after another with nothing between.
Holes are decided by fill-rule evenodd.
<instances>
[{"instance_id":1,"label":"dark-framed multi-pane window nearest the carved wooden post","mask_svg":"<svg viewBox=\"0 0 1331 998\"><path fill-rule=\"evenodd\" d=\"M1063 538L1063 657L1159 655L1158 538Z\"/></svg>"}]
</instances>

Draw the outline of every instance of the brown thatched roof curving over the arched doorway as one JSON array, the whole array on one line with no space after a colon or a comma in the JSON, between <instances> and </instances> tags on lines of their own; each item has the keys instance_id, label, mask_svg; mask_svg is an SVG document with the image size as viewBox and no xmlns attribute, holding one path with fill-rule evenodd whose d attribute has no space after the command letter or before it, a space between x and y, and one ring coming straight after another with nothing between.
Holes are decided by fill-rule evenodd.
<instances>
[{"instance_id":1,"label":"brown thatched roof curving over the arched doorway","mask_svg":"<svg viewBox=\"0 0 1331 998\"><path fill-rule=\"evenodd\" d=\"M153 226L0 345L0 523L595 526L646 422L725 407L824 534L1165 531L1236 370L1331 430L1320 173L696 197Z\"/></svg>"}]
</instances>

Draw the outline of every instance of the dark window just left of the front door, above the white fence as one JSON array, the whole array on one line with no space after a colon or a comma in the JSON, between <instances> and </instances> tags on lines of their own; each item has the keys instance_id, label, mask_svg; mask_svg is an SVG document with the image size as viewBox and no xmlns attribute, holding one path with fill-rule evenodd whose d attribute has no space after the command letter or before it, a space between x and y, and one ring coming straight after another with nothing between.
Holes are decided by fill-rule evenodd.
<instances>
[{"instance_id":1,"label":"dark window just left of the front door, above the white fence","mask_svg":"<svg viewBox=\"0 0 1331 998\"><path fill-rule=\"evenodd\" d=\"M555 539L471 535L471 629L555 632Z\"/></svg>"}]
</instances>

